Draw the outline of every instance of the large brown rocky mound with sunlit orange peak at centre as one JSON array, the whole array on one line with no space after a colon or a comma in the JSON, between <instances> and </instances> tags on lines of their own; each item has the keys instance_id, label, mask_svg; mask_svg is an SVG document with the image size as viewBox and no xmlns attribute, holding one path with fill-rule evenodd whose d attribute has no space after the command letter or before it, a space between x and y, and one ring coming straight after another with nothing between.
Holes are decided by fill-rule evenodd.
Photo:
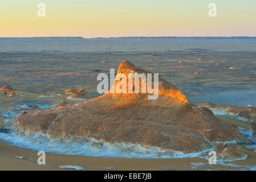
<instances>
[{"instance_id":1,"label":"large brown rocky mound with sunlit orange peak at centre","mask_svg":"<svg viewBox=\"0 0 256 182\"><path fill-rule=\"evenodd\" d=\"M148 73L128 61L120 64L117 73L128 74L132 70ZM242 139L237 127L223 123L205 107L193 106L172 84L162 78L159 81L160 95L156 100L148 100L147 94L116 97L116 93L106 93L79 104L26 113L14 122L27 135L94 138L183 152L201 151L214 141Z\"/></svg>"}]
</instances>

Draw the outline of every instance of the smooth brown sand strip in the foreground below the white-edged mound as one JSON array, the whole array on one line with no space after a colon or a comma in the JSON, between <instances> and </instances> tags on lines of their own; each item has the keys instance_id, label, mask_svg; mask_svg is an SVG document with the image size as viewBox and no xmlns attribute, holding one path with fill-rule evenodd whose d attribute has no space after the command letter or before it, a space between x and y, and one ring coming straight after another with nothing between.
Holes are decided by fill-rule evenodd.
<instances>
[{"instance_id":1,"label":"smooth brown sand strip in the foreground below the white-edged mound","mask_svg":"<svg viewBox=\"0 0 256 182\"><path fill-rule=\"evenodd\" d=\"M59 166L80 166L86 170L106 170L115 167L117 170L157 170L182 169L183 166L195 160L205 162L204 159L127 159L127 158L99 158L74 155L59 155L46 153L46 165L37 164L37 151L31 151L7 143L0 142L1 170L62 170ZM19 159L15 156L23 156ZM30 159L33 158L33 159ZM67 169L67 168L66 168ZM185 168L184 168L185 169Z\"/></svg>"}]
</instances>

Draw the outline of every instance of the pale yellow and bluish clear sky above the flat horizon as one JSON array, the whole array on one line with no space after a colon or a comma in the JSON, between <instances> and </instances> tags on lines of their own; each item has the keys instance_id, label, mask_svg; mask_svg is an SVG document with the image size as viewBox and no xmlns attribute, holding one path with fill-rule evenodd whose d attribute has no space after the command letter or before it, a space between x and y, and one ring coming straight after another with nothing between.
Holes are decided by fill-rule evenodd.
<instances>
[{"instance_id":1,"label":"pale yellow and bluish clear sky above the flat horizon","mask_svg":"<svg viewBox=\"0 0 256 182\"><path fill-rule=\"evenodd\" d=\"M34 36L256 36L256 1L0 0L0 37Z\"/></svg>"}]
</instances>

